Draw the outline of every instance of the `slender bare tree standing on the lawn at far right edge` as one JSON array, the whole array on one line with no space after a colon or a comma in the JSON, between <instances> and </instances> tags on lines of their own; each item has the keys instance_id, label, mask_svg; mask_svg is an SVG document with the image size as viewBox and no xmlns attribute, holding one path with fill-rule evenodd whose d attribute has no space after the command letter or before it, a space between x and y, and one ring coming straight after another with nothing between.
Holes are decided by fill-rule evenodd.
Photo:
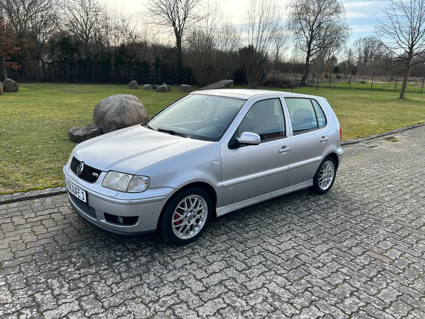
<instances>
[{"instance_id":1,"label":"slender bare tree standing on the lawn at far right edge","mask_svg":"<svg viewBox=\"0 0 425 319\"><path fill-rule=\"evenodd\" d=\"M402 99L411 68L425 63L425 0L391 0L377 21L375 35L391 54L389 65L404 75Z\"/></svg>"}]
</instances>

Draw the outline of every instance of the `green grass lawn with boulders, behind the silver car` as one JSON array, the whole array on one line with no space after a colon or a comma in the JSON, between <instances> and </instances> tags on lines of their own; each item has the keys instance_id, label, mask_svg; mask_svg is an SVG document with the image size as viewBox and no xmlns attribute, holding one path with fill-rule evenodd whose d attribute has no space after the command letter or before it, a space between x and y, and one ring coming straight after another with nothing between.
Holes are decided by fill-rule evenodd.
<instances>
[{"instance_id":1,"label":"green grass lawn with boulders, behind the silver car","mask_svg":"<svg viewBox=\"0 0 425 319\"><path fill-rule=\"evenodd\" d=\"M129 90L127 85L22 84L0 96L0 194L63 185L62 165L76 145L67 131L93 122L97 102L112 94L136 95L149 116L184 93ZM286 90L288 91L288 90ZM425 122L425 94L319 88L296 93L326 97L343 139Z\"/></svg>"}]
</instances>

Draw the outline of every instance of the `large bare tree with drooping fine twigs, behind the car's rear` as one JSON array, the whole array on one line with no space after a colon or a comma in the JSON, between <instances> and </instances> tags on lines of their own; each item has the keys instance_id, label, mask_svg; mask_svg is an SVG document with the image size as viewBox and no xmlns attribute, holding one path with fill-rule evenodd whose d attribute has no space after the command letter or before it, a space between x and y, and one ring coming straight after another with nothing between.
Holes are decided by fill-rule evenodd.
<instances>
[{"instance_id":1,"label":"large bare tree with drooping fine twigs, behind the car's rear","mask_svg":"<svg viewBox=\"0 0 425 319\"><path fill-rule=\"evenodd\" d=\"M300 81L303 86L309 76L310 63L320 54L331 55L343 48L350 29L344 5L339 0L292 0L288 9L288 28L294 33L297 46L306 53Z\"/></svg>"}]
</instances>

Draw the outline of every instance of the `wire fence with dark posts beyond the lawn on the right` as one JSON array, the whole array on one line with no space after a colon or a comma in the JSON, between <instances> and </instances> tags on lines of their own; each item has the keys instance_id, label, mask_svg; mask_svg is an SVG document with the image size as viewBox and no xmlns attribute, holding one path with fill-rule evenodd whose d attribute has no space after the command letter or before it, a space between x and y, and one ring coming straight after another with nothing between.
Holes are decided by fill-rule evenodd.
<instances>
[{"instance_id":1,"label":"wire fence with dark posts beyond the lawn on the right","mask_svg":"<svg viewBox=\"0 0 425 319\"><path fill-rule=\"evenodd\" d=\"M295 80L299 85L302 74L287 73L283 74L284 79ZM317 79L317 74L311 74L306 79L307 87L319 88L341 88L351 90L368 90L368 91L393 91L399 92L402 87L402 76L361 76L361 75L345 75L345 74L321 74ZM318 85L317 85L318 82ZM293 83L293 82L292 82ZM406 92L425 93L424 89L425 77L408 77L406 84Z\"/></svg>"}]
</instances>

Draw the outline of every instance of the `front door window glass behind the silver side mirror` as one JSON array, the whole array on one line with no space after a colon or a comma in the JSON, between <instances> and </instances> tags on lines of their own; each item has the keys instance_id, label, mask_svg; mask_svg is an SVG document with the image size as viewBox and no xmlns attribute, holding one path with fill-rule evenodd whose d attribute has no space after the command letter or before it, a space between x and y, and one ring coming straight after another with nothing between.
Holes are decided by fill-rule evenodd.
<instances>
[{"instance_id":1,"label":"front door window glass behind the silver side mirror","mask_svg":"<svg viewBox=\"0 0 425 319\"><path fill-rule=\"evenodd\" d=\"M263 100L249 109L236 135L252 132L260 135L261 142L285 136L282 105L279 99Z\"/></svg>"}]
</instances>

